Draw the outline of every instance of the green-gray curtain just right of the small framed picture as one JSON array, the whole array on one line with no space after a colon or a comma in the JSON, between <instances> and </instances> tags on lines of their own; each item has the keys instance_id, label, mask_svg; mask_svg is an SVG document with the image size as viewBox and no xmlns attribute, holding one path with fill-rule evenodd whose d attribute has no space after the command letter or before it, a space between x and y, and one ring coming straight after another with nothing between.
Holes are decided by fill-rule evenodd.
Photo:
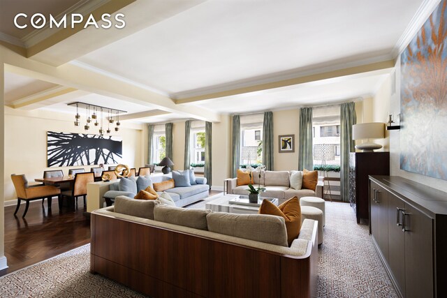
<instances>
[{"instance_id":1,"label":"green-gray curtain just right of the small framed picture","mask_svg":"<svg viewBox=\"0 0 447 298\"><path fill-rule=\"evenodd\" d=\"M314 170L312 135L312 107L300 109L300 146L298 148L298 169Z\"/></svg>"}]
</instances>

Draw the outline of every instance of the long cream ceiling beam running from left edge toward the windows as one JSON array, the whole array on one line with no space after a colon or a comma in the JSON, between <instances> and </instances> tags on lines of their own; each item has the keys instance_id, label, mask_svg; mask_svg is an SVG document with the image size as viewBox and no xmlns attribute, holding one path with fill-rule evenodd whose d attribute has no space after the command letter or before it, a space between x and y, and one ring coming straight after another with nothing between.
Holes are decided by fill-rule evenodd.
<instances>
[{"instance_id":1,"label":"long cream ceiling beam running from left edge toward the windows","mask_svg":"<svg viewBox=\"0 0 447 298\"><path fill-rule=\"evenodd\" d=\"M203 121L220 121L220 115L217 112L200 107L177 105L172 99L156 94L154 91L135 86L130 82L123 82L99 73L94 73L85 68L71 64L64 64L56 68L24 58L1 45L0 55L3 56L3 61L5 61L5 70L11 73L26 75L28 77L34 77L37 80L44 80L65 87L126 100L130 103L145 105L152 110L158 109L177 113L184 117L191 117Z\"/></svg>"}]
</instances>

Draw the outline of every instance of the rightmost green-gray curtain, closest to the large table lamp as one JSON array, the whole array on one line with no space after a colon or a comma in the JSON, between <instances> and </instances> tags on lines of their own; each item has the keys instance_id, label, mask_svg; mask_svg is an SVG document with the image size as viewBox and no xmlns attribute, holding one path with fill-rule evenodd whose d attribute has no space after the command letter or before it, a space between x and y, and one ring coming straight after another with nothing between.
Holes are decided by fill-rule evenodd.
<instances>
[{"instance_id":1,"label":"rightmost green-gray curtain, closest to the large table lamp","mask_svg":"<svg viewBox=\"0 0 447 298\"><path fill-rule=\"evenodd\" d=\"M340 196L349 202L349 153L354 151L352 126L357 123L355 103L343 103L340 110Z\"/></svg>"}]
</instances>

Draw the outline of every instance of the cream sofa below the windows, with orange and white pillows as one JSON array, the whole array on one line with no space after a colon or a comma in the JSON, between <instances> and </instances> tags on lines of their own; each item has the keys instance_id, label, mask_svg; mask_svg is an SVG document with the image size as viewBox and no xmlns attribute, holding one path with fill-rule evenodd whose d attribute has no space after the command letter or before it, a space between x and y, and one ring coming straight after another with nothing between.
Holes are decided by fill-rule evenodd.
<instances>
[{"instance_id":1,"label":"cream sofa below the windows, with orange and white pillows","mask_svg":"<svg viewBox=\"0 0 447 298\"><path fill-rule=\"evenodd\" d=\"M295 189L291 188L289 171L265 171L261 172L261 179L258 172L254 172L254 187L266 188L266 191L261 193L261 197L277 198L281 204L285 200L293 197L318 197L323 198L324 177L318 177L318 184L315 191L312 189ZM225 179L224 191L226 193L235 195L248 195L247 185L237 186L237 178Z\"/></svg>"}]
</instances>

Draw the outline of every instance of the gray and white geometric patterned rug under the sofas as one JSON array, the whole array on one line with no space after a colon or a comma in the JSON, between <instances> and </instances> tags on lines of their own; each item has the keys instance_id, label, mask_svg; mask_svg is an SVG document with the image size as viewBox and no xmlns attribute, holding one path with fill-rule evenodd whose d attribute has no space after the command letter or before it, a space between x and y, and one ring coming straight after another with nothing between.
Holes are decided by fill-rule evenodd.
<instances>
[{"instance_id":1,"label":"gray and white geometric patterned rug under the sofas","mask_svg":"<svg viewBox=\"0 0 447 298\"><path fill-rule=\"evenodd\" d=\"M210 199L207 199L210 200ZM205 208L205 201L190 205ZM318 250L318 297L397 297L367 225L349 204L326 202L324 241ZM0 277L0 297L145 297L89 273L89 244Z\"/></svg>"}]
</instances>

